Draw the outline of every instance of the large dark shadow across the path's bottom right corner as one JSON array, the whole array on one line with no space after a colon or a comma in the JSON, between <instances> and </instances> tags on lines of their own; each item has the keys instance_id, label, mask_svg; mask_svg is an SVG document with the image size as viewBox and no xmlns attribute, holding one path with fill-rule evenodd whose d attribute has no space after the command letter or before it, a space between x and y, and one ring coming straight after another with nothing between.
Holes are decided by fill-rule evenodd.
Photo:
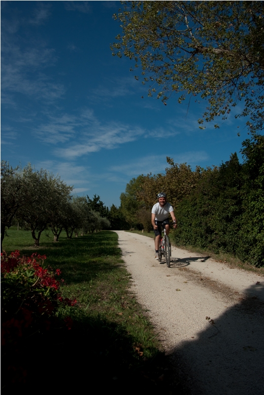
<instances>
[{"instance_id":1,"label":"large dark shadow across the path's bottom right corner","mask_svg":"<svg viewBox=\"0 0 264 395\"><path fill-rule=\"evenodd\" d=\"M207 329L169 353L174 370L187 375L192 395L264 394L263 297L264 286L257 283L223 315L210 317L208 311Z\"/></svg>"}]
</instances>

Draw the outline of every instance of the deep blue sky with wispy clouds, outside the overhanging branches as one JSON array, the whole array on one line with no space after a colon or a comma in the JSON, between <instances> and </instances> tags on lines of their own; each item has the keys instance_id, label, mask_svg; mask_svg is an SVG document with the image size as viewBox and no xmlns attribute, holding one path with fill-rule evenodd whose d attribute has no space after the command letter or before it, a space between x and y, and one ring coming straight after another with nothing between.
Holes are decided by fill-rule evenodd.
<instances>
[{"instance_id":1,"label":"deep blue sky with wispy clouds, outside the overhanging branches","mask_svg":"<svg viewBox=\"0 0 264 395\"><path fill-rule=\"evenodd\" d=\"M58 173L107 206L120 205L132 177L164 173L166 156L194 169L219 165L248 137L234 114L200 130L203 101L188 107L171 97L165 106L147 97L133 63L110 50L119 7L1 1L1 159Z\"/></svg>"}]
</instances>

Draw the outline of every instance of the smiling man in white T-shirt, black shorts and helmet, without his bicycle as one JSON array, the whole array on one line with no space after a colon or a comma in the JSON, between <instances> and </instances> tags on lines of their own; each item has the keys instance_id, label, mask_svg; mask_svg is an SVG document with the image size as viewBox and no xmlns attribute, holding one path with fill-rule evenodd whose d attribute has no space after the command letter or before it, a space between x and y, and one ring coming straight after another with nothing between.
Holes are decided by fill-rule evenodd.
<instances>
[{"instance_id":1,"label":"smiling man in white T-shirt, black shorts and helmet, without his bicycle","mask_svg":"<svg viewBox=\"0 0 264 395\"><path fill-rule=\"evenodd\" d=\"M166 221L166 234L169 234L169 220L168 214L171 215L171 218L174 222L173 228L177 228L177 221L173 212L173 207L166 201L166 194L161 192L157 195L158 203L154 204L151 210L151 223L155 233L155 259L159 259L159 246L160 246L160 239L162 236L162 229L159 222Z\"/></svg>"}]
</instances>

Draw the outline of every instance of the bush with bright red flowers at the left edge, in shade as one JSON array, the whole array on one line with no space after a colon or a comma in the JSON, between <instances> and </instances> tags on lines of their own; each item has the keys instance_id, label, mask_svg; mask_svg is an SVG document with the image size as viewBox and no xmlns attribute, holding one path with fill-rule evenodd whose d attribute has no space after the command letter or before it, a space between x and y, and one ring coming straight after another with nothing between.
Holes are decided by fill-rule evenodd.
<instances>
[{"instance_id":1,"label":"bush with bright red flowers at the left edge, in shade","mask_svg":"<svg viewBox=\"0 0 264 395\"><path fill-rule=\"evenodd\" d=\"M1 344L16 344L23 336L48 330L60 305L74 306L60 293L61 271L44 267L45 255L20 257L1 253ZM70 321L65 318L66 325Z\"/></svg>"}]
</instances>

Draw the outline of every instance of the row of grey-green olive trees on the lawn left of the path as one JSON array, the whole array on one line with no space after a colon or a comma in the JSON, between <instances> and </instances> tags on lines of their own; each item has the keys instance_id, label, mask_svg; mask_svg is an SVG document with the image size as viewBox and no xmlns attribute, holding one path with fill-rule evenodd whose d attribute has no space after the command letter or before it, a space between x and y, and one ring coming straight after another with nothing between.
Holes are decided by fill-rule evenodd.
<instances>
[{"instance_id":1,"label":"row of grey-green olive trees on the lawn left of the path","mask_svg":"<svg viewBox=\"0 0 264 395\"><path fill-rule=\"evenodd\" d=\"M1 251L6 228L17 222L31 231L35 246L48 228L58 241L63 229L71 238L128 226L115 205L108 210L97 195L90 199L71 192L71 186L47 170L35 170L31 164L12 168L1 161Z\"/></svg>"}]
</instances>

